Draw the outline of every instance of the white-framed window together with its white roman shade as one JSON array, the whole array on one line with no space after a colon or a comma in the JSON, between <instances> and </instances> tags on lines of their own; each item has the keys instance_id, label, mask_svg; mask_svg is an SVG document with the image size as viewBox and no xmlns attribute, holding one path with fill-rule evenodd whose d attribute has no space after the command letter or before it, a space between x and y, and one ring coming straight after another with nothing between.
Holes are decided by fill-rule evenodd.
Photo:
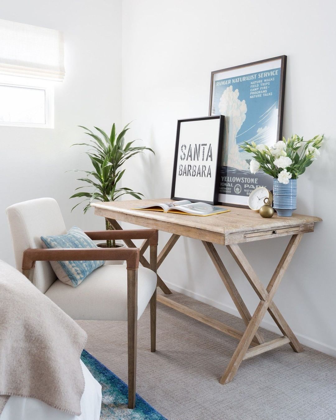
<instances>
[{"instance_id":1,"label":"white-framed window together with its white roman shade","mask_svg":"<svg viewBox=\"0 0 336 420\"><path fill-rule=\"evenodd\" d=\"M0 125L53 128L64 76L62 32L0 19Z\"/></svg>"}]
</instances>

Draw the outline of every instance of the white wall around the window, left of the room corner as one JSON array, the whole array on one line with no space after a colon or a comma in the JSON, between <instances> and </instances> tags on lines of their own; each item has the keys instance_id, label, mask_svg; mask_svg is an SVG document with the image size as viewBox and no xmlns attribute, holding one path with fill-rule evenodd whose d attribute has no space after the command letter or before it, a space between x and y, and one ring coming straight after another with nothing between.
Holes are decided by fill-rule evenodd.
<instances>
[{"instance_id":1,"label":"white wall around the window, left of the room corner","mask_svg":"<svg viewBox=\"0 0 336 420\"><path fill-rule=\"evenodd\" d=\"M14 264L5 208L13 203L54 197L65 223L86 229L104 221L83 215L76 199L79 182L69 169L88 169L76 127L110 130L121 121L121 0L11 0L1 2L0 18L64 32L65 81L55 83L55 129L0 126L0 259Z\"/></svg>"}]
</instances>

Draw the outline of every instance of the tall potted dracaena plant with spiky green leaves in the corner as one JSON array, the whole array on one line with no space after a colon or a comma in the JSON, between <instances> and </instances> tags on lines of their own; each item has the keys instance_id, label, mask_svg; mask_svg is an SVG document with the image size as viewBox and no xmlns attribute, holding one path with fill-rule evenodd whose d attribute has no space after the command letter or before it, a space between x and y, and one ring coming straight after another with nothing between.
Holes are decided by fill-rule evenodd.
<instances>
[{"instance_id":1,"label":"tall potted dracaena plant with spiky green leaves in the corner","mask_svg":"<svg viewBox=\"0 0 336 420\"><path fill-rule=\"evenodd\" d=\"M89 210L90 204L93 200L108 202L115 201L124 194L129 194L137 199L141 199L143 194L140 192L134 192L130 188L120 187L120 182L125 169L122 169L122 165L130 157L149 150L154 153L152 149L145 146L134 147L133 143L135 140L125 144L124 136L129 130L128 123L119 134L116 133L115 124L112 126L111 134L108 136L104 130L94 127L98 134L95 134L90 129L84 126L78 126L86 130L85 134L91 137L89 143L75 143L72 146L87 146L89 150L86 154L89 156L93 170L82 171L75 169L75 172L85 173L86 176L78 178L77 181L85 182L85 185L79 186L76 190L81 190L85 187L91 188L90 191L79 191L73 194L70 198L82 198L85 199L76 204L71 211L83 202L88 201L84 206L84 214ZM155 154L155 153L154 153ZM112 226L107 219L105 219L105 228L112 230ZM116 248L122 246L122 244L116 244L114 240L107 240L106 243L98 244L100 247Z\"/></svg>"}]
</instances>

